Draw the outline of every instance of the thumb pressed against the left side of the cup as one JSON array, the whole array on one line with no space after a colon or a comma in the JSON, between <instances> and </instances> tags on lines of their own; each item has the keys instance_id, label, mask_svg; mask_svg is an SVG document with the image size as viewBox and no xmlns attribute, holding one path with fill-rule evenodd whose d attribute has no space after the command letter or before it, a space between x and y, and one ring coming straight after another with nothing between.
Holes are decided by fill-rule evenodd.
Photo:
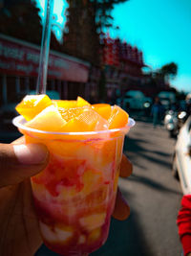
<instances>
[{"instance_id":1,"label":"thumb pressed against the left side of the cup","mask_svg":"<svg viewBox=\"0 0 191 256\"><path fill-rule=\"evenodd\" d=\"M0 144L0 187L21 182L42 171L49 151L41 144Z\"/></svg>"}]
</instances>

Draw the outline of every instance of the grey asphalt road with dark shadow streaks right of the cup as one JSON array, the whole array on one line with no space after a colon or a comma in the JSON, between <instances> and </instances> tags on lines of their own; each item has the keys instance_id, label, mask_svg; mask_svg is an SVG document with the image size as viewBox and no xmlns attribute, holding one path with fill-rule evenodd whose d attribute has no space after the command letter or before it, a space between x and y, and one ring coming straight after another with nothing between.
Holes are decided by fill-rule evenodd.
<instances>
[{"instance_id":1,"label":"grey asphalt road with dark shadow streaks right of the cup","mask_svg":"<svg viewBox=\"0 0 191 256\"><path fill-rule=\"evenodd\" d=\"M119 186L131 207L127 221L112 220L109 238L91 256L180 256L176 218L180 183L171 174L175 140L162 128L137 122L125 140L124 151L134 164ZM54 256L42 246L35 256Z\"/></svg>"}]
</instances>

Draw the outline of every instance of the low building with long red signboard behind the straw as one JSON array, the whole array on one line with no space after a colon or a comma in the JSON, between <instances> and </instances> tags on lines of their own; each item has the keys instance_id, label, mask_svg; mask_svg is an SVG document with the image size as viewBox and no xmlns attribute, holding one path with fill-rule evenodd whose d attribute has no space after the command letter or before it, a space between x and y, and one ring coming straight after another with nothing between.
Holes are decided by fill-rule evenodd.
<instances>
[{"instance_id":1,"label":"low building with long red signboard behind the straw","mask_svg":"<svg viewBox=\"0 0 191 256\"><path fill-rule=\"evenodd\" d=\"M18 103L35 90L40 47L0 34L0 105ZM56 90L61 99L85 97L90 64L79 58L50 52L47 89Z\"/></svg>"}]
</instances>

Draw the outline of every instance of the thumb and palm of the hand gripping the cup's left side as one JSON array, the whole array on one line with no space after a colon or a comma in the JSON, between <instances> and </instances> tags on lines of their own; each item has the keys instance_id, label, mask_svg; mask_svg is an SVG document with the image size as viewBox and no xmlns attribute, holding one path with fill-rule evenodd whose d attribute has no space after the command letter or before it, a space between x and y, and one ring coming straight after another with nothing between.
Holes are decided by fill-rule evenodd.
<instances>
[{"instance_id":1,"label":"thumb and palm of the hand gripping the cup's left side","mask_svg":"<svg viewBox=\"0 0 191 256\"><path fill-rule=\"evenodd\" d=\"M1 256L32 256L42 244L29 177L45 168L49 153L43 145L24 143L22 137L0 144Z\"/></svg>"}]
</instances>

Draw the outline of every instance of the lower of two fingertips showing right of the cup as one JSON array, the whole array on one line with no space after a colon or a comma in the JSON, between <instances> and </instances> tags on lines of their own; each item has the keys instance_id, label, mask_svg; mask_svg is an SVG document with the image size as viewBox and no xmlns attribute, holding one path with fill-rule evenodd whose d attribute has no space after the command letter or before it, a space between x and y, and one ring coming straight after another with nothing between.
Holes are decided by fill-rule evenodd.
<instances>
[{"instance_id":1,"label":"lower of two fingertips showing right of the cup","mask_svg":"<svg viewBox=\"0 0 191 256\"><path fill-rule=\"evenodd\" d=\"M113 212L113 217L118 221L126 220L130 215L130 208L125 199L122 197L119 189L117 190L116 205Z\"/></svg>"}]
</instances>

